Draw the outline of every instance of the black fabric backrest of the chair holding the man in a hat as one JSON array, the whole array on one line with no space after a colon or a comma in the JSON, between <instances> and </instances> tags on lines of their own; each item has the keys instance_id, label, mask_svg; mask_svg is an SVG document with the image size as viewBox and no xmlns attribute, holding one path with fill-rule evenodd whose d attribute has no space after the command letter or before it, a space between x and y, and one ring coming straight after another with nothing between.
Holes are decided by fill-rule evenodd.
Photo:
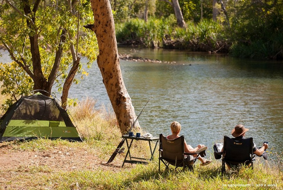
<instances>
[{"instance_id":1,"label":"black fabric backrest of the chair holding the man in a hat","mask_svg":"<svg viewBox=\"0 0 283 190\"><path fill-rule=\"evenodd\" d=\"M223 152L226 161L244 163L252 160L253 139L235 139L224 136Z\"/></svg>"}]
</instances>

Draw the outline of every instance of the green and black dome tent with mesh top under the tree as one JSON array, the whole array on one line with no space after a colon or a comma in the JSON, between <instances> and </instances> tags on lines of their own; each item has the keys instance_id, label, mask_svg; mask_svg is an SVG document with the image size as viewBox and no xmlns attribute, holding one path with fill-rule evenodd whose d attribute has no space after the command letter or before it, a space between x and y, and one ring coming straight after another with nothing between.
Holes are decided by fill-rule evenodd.
<instances>
[{"instance_id":1,"label":"green and black dome tent with mesh top under the tree","mask_svg":"<svg viewBox=\"0 0 283 190\"><path fill-rule=\"evenodd\" d=\"M0 118L0 142L34 138L82 141L66 110L37 93L21 97Z\"/></svg>"}]
</instances>

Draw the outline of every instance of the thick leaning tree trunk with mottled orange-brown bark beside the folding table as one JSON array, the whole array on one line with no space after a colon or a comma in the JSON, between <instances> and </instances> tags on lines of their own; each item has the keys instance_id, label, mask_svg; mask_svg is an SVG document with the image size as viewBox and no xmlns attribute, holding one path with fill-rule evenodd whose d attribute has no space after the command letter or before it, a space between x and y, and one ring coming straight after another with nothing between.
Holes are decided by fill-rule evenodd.
<instances>
[{"instance_id":1,"label":"thick leaning tree trunk with mottled orange-brown bark beside the folding table","mask_svg":"<svg viewBox=\"0 0 283 190\"><path fill-rule=\"evenodd\" d=\"M86 25L95 32L99 55L97 65L116 118L124 134L137 118L131 98L125 87L118 56L115 24L109 0L91 0L94 24ZM135 127L140 128L136 122Z\"/></svg>"}]
</instances>

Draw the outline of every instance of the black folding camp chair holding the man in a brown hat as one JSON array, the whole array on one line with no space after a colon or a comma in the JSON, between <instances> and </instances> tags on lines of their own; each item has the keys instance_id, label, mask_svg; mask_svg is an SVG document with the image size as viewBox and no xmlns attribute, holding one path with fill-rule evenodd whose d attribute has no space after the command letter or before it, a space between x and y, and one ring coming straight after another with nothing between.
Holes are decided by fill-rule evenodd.
<instances>
[{"instance_id":1,"label":"black folding camp chair holding the man in a brown hat","mask_svg":"<svg viewBox=\"0 0 283 190\"><path fill-rule=\"evenodd\" d=\"M253 158L255 156L252 153L252 147L252 137L235 140L234 138L224 136L222 173L226 171L225 164L227 164L230 168L246 165L253 169Z\"/></svg>"}]
</instances>

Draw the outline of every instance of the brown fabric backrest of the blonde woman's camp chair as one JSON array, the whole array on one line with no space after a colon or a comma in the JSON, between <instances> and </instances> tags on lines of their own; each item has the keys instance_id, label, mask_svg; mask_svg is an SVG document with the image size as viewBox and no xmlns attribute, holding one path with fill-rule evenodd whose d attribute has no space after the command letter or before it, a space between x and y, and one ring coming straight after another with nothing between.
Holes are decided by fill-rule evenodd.
<instances>
[{"instance_id":1,"label":"brown fabric backrest of the blonde woman's camp chair","mask_svg":"<svg viewBox=\"0 0 283 190\"><path fill-rule=\"evenodd\" d=\"M183 161L184 136L168 140L163 134L159 135L160 147L162 147L162 159Z\"/></svg>"}]
</instances>

